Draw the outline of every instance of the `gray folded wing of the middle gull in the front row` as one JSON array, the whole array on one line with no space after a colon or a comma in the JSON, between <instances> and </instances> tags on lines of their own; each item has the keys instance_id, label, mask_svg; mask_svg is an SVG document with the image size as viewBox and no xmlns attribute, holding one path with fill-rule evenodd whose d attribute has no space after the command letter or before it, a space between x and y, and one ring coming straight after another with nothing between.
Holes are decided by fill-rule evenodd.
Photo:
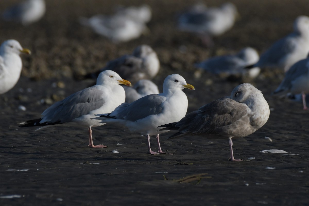
<instances>
[{"instance_id":1,"label":"gray folded wing of the middle gull in the front row","mask_svg":"<svg viewBox=\"0 0 309 206\"><path fill-rule=\"evenodd\" d=\"M128 121L137 121L149 115L156 115L162 112L162 103L166 97L159 95L147 95L130 104L122 103L110 116L116 116L116 119Z\"/></svg>"}]
</instances>

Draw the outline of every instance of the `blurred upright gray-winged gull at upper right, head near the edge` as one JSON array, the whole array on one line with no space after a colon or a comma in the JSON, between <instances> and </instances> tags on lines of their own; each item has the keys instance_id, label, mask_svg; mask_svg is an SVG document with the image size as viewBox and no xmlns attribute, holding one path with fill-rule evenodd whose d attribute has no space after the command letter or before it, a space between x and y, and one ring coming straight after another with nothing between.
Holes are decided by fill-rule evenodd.
<instances>
[{"instance_id":1,"label":"blurred upright gray-winged gull at upper right, head near the edge","mask_svg":"<svg viewBox=\"0 0 309 206\"><path fill-rule=\"evenodd\" d=\"M282 68L286 72L309 53L309 17L298 16L294 21L294 31L276 41L261 56L253 67Z\"/></svg>"}]
</instances>

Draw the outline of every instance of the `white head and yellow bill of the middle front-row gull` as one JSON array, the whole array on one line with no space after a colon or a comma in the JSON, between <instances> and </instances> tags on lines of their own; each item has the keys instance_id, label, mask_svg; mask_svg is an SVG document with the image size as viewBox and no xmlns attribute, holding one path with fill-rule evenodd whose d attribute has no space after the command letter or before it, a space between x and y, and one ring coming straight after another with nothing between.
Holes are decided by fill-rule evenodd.
<instances>
[{"instance_id":1,"label":"white head and yellow bill of the middle front-row gull","mask_svg":"<svg viewBox=\"0 0 309 206\"><path fill-rule=\"evenodd\" d=\"M194 86L187 84L186 80L179 74L168 75L163 82L163 92L174 91L174 90L183 90L188 88L194 90Z\"/></svg>"}]
</instances>

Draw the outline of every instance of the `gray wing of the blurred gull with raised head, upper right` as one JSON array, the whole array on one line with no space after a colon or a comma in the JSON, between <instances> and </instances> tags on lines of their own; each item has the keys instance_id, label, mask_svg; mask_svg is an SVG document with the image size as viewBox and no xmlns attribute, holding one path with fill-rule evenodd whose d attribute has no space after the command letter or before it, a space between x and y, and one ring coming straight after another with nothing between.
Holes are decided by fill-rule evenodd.
<instances>
[{"instance_id":1,"label":"gray wing of the blurred gull with raised head, upper right","mask_svg":"<svg viewBox=\"0 0 309 206\"><path fill-rule=\"evenodd\" d=\"M293 52L297 47L295 36L295 34L291 34L275 42L260 56L260 60L256 63L256 66L276 66L281 61L282 57Z\"/></svg>"}]
</instances>

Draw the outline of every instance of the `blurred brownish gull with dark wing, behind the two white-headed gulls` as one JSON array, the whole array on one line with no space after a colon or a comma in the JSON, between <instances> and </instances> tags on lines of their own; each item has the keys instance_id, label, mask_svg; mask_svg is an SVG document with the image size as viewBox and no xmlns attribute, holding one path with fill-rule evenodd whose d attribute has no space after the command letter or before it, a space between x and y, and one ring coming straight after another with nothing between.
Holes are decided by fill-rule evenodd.
<instances>
[{"instance_id":1,"label":"blurred brownish gull with dark wing, behind the two white-headed gulls","mask_svg":"<svg viewBox=\"0 0 309 206\"><path fill-rule=\"evenodd\" d=\"M142 44L134 49L133 54L109 61L99 72L113 70L135 84L141 79L154 78L159 69L160 62L157 53L149 45ZM86 77L88 76L97 76L97 74L87 74Z\"/></svg>"}]
</instances>

